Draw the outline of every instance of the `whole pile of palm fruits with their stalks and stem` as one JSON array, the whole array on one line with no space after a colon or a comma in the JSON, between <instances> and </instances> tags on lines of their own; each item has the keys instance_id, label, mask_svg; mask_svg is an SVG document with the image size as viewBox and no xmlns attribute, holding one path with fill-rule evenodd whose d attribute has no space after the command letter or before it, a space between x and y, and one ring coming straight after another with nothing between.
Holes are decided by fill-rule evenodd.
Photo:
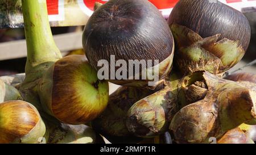
<instances>
[{"instance_id":1,"label":"whole pile of palm fruits with their stalks and stem","mask_svg":"<svg viewBox=\"0 0 256 155\"><path fill-rule=\"evenodd\" d=\"M180 0L166 21L146 0L97 3L82 36L86 57L62 57L46 0L22 0L22 7L26 77L15 87L0 81L0 143L256 141L256 75L225 76L250 42L241 12ZM159 80L100 80L98 62L110 64L113 55L158 60L140 69L157 70ZM121 87L109 95L108 82Z\"/></svg>"}]
</instances>

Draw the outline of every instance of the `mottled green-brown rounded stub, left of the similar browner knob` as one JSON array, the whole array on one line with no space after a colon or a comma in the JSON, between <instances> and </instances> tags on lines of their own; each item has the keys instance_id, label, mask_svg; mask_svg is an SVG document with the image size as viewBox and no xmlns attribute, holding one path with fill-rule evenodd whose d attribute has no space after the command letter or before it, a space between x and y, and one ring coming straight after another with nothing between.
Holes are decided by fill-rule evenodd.
<instances>
[{"instance_id":1,"label":"mottled green-brown rounded stub, left of the similar browner knob","mask_svg":"<svg viewBox=\"0 0 256 155\"><path fill-rule=\"evenodd\" d=\"M126 126L138 137L155 137L167 131L169 117L177 111L175 95L166 88L135 103L127 114ZM174 112L174 113L175 113Z\"/></svg>"}]
</instances>

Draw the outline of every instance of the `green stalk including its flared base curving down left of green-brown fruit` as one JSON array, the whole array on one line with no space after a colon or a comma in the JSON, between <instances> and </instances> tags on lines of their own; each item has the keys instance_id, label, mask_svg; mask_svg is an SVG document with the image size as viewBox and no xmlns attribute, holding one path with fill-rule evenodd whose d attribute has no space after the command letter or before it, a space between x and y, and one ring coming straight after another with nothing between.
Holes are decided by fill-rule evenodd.
<instances>
[{"instance_id":1,"label":"green stalk including its flared base curving down left of green-brown fruit","mask_svg":"<svg viewBox=\"0 0 256 155\"><path fill-rule=\"evenodd\" d=\"M36 85L49 66L62 56L53 40L46 0L22 0L22 8L27 41L27 62L26 78L20 86L20 91L25 100L41 110Z\"/></svg>"}]
</instances>

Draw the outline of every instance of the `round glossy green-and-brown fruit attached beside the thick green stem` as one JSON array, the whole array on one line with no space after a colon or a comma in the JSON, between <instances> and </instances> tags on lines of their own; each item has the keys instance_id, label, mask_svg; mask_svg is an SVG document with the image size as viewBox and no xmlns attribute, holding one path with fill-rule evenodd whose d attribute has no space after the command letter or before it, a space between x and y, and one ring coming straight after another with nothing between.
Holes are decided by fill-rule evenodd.
<instances>
[{"instance_id":1,"label":"round glossy green-and-brown fruit attached beside the thick green stem","mask_svg":"<svg viewBox=\"0 0 256 155\"><path fill-rule=\"evenodd\" d=\"M42 106L63 123L84 124L105 110L109 85L97 78L97 72L81 55L56 61L38 86Z\"/></svg>"}]
</instances>

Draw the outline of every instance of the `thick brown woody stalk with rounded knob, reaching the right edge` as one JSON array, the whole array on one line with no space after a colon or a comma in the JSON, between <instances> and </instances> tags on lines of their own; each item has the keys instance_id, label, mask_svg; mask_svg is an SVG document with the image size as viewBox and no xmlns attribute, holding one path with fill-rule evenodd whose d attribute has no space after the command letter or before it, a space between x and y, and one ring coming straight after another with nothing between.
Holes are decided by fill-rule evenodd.
<instances>
[{"instance_id":1,"label":"thick brown woody stalk with rounded knob, reaching the right edge","mask_svg":"<svg viewBox=\"0 0 256 155\"><path fill-rule=\"evenodd\" d=\"M202 76L208 88L205 97L185 106L172 119L170 130L177 143L208 143L210 137L218 139L256 117L254 83L228 81L208 72Z\"/></svg>"}]
</instances>

